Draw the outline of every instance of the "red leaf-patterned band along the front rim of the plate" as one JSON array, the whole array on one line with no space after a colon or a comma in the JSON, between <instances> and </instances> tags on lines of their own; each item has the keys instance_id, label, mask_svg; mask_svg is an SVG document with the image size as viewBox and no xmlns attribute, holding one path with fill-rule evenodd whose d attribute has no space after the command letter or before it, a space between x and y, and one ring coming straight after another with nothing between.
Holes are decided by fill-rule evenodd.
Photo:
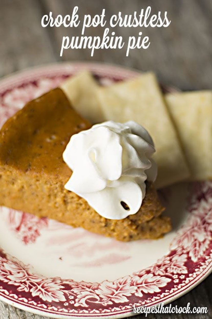
<instances>
[{"instance_id":1,"label":"red leaf-patterned band along the front rim of the plate","mask_svg":"<svg viewBox=\"0 0 212 319\"><path fill-rule=\"evenodd\" d=\"M201 275L201 268L203 270L212 262L211 197L207 197L211 188L211 182L202 183L200 200L197 192L194 189L191 191L188 221L172 241L169 254L151 267L114 281L87 283L58 277L46 278L34 274L29 265L24 265L16 258L2 255L0 293L13 286L13 294L15 290L17 295L27 293L27 298L31 296L36 300L38 308L38 300L46 305L58 303L57 307L54 304L55 313L63 313L61 305L69 313L83 313L83 309L90 309L88 313L95 309L99 313L99 309L103 308L115 313L117 309L132 308L133 303L154 303L177 287L179 289L189 284L198 274Z\"/></svg>"}]
</instances>

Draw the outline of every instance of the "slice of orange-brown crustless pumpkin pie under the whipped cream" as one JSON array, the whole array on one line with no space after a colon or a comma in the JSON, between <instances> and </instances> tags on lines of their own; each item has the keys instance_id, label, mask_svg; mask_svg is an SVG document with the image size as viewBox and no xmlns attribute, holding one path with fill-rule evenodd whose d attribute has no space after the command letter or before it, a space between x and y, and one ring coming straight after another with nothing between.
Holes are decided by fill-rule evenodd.
<instances>
[{"instance_id":1,"label":"slice of orange-brown crustless pumpkin pie under the whipped cream","mask_svg":"<svg viewBox=\"0 0 212 319\"><path fill-rule=\"evenodd\" d=\"M100 216L85 199L65 189L72 174L62 154L72 134L90 123L54 89L11 117L0 131L0 205L48 217L121 241L158 238L170 219L151 184L140 210L125 219Z\"/></svg>"}]
</instances>

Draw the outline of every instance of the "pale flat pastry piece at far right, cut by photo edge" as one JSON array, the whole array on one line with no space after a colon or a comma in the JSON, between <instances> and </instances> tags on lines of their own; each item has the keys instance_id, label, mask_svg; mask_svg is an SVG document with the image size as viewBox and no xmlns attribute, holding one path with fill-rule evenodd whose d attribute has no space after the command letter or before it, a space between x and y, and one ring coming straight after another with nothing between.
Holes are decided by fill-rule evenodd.
<instances>
[{"instance_id":1,"label":"pale flat pastry piece at far right, cut by photo edge","mask_svg":"<svg viewBox=\"0 0 212 319\"><path fill-rule=\"evenodd\" d=\"M212 179L212 91L166 94L191 179Z\"/></svg>"}]
</instances>

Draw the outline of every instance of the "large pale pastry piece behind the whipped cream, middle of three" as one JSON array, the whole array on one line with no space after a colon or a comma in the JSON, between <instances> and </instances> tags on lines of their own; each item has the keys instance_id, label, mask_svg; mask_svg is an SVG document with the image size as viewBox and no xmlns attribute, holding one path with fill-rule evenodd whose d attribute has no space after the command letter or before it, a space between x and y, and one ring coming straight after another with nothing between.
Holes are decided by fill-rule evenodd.
<instances>
[{"instance_id":1,"label":"large pale pastry piece behind the whipped cream, middle of three","mask_svg":"<svg viewBox=\"0 0 212 319\"><path fill-rule=\"evenodd\" d=\"M99 88L98 92L104 120L133 120L152 136L157 188L188 178L188 166L154 73Z\"/></svg>"}]
</instances>

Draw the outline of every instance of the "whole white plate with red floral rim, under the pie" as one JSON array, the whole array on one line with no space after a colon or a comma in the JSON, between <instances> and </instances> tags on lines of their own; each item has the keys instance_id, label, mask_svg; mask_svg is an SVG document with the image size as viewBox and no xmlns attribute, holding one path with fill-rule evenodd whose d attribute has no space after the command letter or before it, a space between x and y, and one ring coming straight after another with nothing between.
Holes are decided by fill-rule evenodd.
<instances>
[{"instance_id":1,"label":"whole white plate with red floral rim, under the pie","mask_svg":"<svg viewBox=\"0 0 212 319\"><path fill-rule=\"evenodd\" d=\"M0 126L83 69L103 85L138 74L95 63L19 72L0 81ZM120 318L188 292L212 270L212 183L176 184L160 196L173 230L128 243L0 207L0 299L55 318Z\"/></svg>"}]
</instances>

